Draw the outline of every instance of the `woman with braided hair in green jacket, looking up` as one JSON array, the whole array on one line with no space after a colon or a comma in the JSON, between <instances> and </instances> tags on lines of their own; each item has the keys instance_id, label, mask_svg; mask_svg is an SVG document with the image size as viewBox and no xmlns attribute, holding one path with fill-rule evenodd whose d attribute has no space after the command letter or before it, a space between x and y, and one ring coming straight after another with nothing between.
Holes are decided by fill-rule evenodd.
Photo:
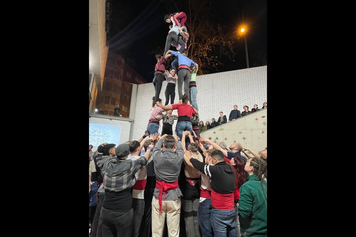
<instances>
[{"instance_id":1,"label":"woman with braided hair in green jacket, looking up","mask_svg":"<svg viewBox=\"0 0 356 237\"><path fill-rule=\"evenodd\" d=\"M240 233L242 237L267 237L267 163L249 158L245 171L249 176L240 187Z\"/></svg>"}]
</instances>

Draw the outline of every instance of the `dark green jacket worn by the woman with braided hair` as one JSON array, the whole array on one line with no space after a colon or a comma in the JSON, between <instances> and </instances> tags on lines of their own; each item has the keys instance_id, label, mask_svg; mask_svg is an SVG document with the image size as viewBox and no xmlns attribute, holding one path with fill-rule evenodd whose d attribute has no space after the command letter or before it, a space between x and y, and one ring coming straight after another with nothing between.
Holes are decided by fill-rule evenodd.
<instances>
[{"instance_id":1,"label":"dark green jacket worn by the woman with braided hair","mask_svg":"<svg viewBox=\"0 0 356 237\"><path fill-rule=\"evenodd\" d=\"M261 181L256 174L240 187L239 220L242 237L267 237L267 181Z\"/></svg>"}]
</instances>

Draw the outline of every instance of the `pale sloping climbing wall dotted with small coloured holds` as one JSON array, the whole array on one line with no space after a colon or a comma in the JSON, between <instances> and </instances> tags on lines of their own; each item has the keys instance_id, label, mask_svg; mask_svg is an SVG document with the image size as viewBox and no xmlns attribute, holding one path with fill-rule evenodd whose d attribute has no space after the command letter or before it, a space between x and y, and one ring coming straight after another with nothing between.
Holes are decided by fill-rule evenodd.
<instances>
[{"instance_id":1,"label":"pale sloping climbing wall dotted with small coloured holds","mask_svg":"<svg viewBox=\"0 0 356 237\"><path fill-rule=\"evenodd\" d=\"M267 108L200 133L215 143L223 141L227 147L240 142L242 147L256 153L267 147Z\"/></svg>"}]
</instances>

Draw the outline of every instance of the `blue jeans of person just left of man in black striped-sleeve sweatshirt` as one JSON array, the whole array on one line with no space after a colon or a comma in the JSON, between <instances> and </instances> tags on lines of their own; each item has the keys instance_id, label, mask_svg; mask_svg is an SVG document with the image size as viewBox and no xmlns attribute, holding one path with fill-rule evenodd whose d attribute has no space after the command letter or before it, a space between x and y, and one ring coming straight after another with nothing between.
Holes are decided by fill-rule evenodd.
<instances>
[{"instance_id":1,"label":"blue jeans of person just left of man in black striped-sleeve sweatshirt","mask_svg":"<svg viewBox=\"0 0 356 237\"><path fill-rule=\"evenodd\" d=\"M213 236L211 231L212 230L211 223L210 223L210 215L211 215L211 209L209 209L210 204L211 204L210 198L207 198L201 203L199 203L198 220L199 220L200 231L203 237Z\"/></svg>"}]
</instances>

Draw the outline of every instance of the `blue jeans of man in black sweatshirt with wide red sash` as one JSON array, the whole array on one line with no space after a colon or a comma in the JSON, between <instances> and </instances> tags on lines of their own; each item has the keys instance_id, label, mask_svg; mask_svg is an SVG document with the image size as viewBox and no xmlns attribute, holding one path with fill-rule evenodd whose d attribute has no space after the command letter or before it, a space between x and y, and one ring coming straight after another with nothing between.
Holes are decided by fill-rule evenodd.
<instances>
[{"instance_id":1,"label":"blue jeans of man in black sweatshirt with wide red sash","mask_svg":"<svg viewBox=\"0 0 356 237\"><path fill-rule=\"evenodd\" d=\"M214 237L237 237L236 210L211 209Z\"/></svg>"}]
</instances>

